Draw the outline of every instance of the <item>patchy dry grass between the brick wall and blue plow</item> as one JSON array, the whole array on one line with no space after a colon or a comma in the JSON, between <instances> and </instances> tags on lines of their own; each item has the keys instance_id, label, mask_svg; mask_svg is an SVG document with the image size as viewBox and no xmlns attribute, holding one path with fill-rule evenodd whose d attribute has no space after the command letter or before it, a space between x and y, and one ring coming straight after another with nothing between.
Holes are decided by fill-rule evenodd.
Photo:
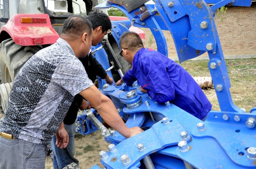
<instances>
[{"instance_id":1,"label":"patchy dry grass between the brick wall and blue plow","mask_svg":"<svg viewBox=\"0 0 256 169\"><path fill-rule=\"evenodd\" d=\"M228 76L231 84L230 93L232 100L239 108L245 108L249 112L256 107L256 58L250 59L226 59ZM208 68L209 60L187 60L180 65L191 76L211 76ZM221 78L221 77L220 77ZM213 108L219 109L218 100L213 98L213 89L204 90ZM216 96L216 93L214 94Z\"/></svg>"}]
</instances>

